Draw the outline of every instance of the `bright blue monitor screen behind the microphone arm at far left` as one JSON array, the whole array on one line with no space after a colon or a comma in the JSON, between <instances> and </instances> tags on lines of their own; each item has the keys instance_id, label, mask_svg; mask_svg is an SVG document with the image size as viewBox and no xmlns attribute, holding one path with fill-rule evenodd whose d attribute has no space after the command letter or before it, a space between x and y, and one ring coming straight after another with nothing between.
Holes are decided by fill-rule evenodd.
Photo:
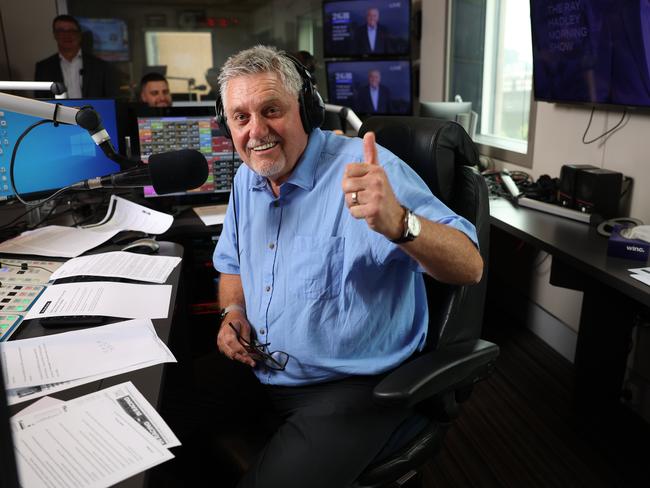
<instances>
[{"instance_id":1,"label":"bright blue monitor screen behind the microphone arm at far left","mask_svg":"<svg viewBox=\"0 0 650 488\"><path fill-rule=\"evenodd\" d=\"M68 107L92 106L102 118L113 144L118 146L118 117L115 100L46 100ZM0 201L15 199L9 165L20 135L42 120L0 109ZM41 198L78 181L120 171L93 142L88 132L74 125L47 123L33 129L20 143L14 162L16 187L27 199Z\"/></svg>"}]
</instances>

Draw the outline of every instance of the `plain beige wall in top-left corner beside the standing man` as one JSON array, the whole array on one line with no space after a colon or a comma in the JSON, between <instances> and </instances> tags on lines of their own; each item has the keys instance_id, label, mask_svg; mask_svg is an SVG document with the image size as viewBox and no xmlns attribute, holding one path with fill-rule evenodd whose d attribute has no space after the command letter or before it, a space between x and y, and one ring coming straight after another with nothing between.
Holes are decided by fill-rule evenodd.
<instances>
[{"instance_id":1,"label":"plain beige wall in top-left corner beside the standing man","mask_svg":"<svg viewBox=\"0 0 650 488\"><path fill-rule=\"evenodd\" d=\"M0 0L2 27L7 42L7 58L12 80L32 80L34 64L56 52L52 19L57 16L56 0Z\"/></svg>"}]
</instances>

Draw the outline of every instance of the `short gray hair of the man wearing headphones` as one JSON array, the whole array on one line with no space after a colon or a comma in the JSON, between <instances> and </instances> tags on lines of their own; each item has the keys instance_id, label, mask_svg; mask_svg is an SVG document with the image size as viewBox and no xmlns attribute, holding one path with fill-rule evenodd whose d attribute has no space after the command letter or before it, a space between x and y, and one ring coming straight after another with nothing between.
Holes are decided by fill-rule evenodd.
<instances>
[{"instance_id":1,"label":"short gray hair of the man wearing headphones","mask_svg":"<svg viewBox=\"0 0 650 488\"><path fill-rule=\"evenodd\" d=\"M296 98L302 89L302 78L287 54L275 47L260 44L230 56L221 68L219 94L224 105L230 80L258 73L277 73L286 90Z\"/></svg>"}]
</instances>

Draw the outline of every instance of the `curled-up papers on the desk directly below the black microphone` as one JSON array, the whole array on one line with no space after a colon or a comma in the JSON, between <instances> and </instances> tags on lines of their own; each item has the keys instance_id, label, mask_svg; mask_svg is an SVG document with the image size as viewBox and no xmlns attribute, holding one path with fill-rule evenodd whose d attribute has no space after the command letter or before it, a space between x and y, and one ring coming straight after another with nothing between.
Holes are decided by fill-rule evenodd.
<instances>
[{"instance_id":1,"label":"curled-up papers on the desk directly below the black microphone","mask_svg":"<svg viewBox=\"0 0 650 488\"><path fill-rule=\"evenodd\" d=\"M23 232L0 243L0 253L73 258L103 244L123 230L162 234L173 221L171 215L112 195L106 216L97 224L83 228L49 225Z\"/></svg>"}]
</instances>

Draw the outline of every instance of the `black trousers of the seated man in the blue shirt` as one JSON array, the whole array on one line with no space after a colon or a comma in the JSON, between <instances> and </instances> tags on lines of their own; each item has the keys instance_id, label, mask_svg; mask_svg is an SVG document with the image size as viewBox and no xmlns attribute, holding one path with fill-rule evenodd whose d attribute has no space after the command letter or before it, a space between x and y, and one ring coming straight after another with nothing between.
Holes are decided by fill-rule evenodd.
<instances>
[{"instance_id":1,"label":"black trousers of the seated man in the blue shirt","mask_svg":"<svg viewBox=\"0 0 650 488\"><path fill-rule=\"evenodd\" d=\"M197 486L347 488L411 414L374 404L383 375L264 386L250 367L218 353L197 359L193 370L164 409L183 445L155 486L196 478Z\"/></svg>"}]
</instances>

